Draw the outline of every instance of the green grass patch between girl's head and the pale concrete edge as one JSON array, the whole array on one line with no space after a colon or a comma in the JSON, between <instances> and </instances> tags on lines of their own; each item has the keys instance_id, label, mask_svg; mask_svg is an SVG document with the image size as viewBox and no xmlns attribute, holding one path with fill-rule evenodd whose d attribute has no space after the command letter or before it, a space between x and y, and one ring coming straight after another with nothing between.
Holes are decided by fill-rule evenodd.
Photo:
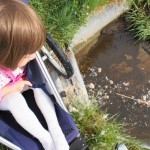
<instances>
[{"instance_id":1,"label":"green grass patch between girl's head and the pale concrete edge","mask_svg":"<svg viewBox=\"0 0 150 150\"><path fill-rule=\"evenodd\" d=\"M68 45L89 14L109 0L30 0L48 32L61 45Z\"/></svg>"}]
</instances>

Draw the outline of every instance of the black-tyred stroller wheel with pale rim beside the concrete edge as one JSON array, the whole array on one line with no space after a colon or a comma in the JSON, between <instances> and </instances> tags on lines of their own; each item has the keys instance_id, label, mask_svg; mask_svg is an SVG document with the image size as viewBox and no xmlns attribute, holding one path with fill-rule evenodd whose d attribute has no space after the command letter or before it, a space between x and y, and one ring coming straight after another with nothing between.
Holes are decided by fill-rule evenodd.
<instances>
[{"instance_id":1,"label":"black-tyred stroller wheel with pale rim beside the concrete edge","mask_svg":"<svg viewBox=\"0 0 150 150\"><path fill-rule=\"evenodd\" d=\"M46 35L46 45L41 50L47 56L49 63L55 71L66 79L73 75L73 68L68 57L48 33Z\"/></svg>"}]
</instances>

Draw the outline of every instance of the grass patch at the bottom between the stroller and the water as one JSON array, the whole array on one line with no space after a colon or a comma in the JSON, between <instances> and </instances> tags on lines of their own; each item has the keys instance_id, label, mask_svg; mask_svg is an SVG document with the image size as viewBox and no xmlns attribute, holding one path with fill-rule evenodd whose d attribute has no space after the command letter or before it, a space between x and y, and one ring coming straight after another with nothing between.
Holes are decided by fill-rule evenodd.
<instances>
[{"instance_id":1,"label":"grass patch at the bottom between the stroller and the water","mask_svg":"<svg viewBox=\"0 0 150 150\"><path fill-rule=\"evenodd\" d=\"M96 98L88 102L74 98L70 105L71 115L90 150L115 150L116 143L124 143L128 150L144 150L140 141L127 135L125 125L117 122L117 116L100 111Z\"/></svg>"}]
</instances>

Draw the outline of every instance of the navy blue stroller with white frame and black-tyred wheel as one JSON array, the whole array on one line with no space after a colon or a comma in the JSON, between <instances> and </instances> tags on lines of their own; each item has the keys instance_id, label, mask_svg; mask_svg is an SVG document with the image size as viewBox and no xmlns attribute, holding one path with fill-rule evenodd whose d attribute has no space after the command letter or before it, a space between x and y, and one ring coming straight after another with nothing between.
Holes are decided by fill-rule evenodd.
<instances>
[{"instance_id":1,"label":"navy blue stroller with white frame and black-tyred wheel","mask_svg":"<svg viewBox=\"0 0 150 150\"><path fill-rule=\"evenodd\" d=\"M28 64L29 81L32 81L33 86L40 86L52 99L59 125L70 145L70 150L86 150L88 147L83 137L80 135L72 117L68 113L62 101L62 97L47 70L45 61L48 60L51 66L65 78L70 78L73 75L72 66L63 50L61 50L59 45L48 34L46 37L46 44L46 46L41 48L41 52L36 52L36 59ZM53 59L46 47L51 48L52 53L55 53L63 67ZM32 90L23 92L23 96L43 127L47 129L46 121L39 108L36 106ZM32 137L32 135L19 126L10 112L0 111L0 135L0 143L13 150L43 149L37 139Z\"/></svg>"}]
</instances>

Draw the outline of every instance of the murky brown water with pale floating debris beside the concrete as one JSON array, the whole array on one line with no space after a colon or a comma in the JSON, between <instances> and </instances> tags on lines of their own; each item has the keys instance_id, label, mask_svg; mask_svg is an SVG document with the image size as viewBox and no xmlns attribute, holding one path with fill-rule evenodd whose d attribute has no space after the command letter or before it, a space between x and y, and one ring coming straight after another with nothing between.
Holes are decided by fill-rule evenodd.
<instances>
[{"instance_id":1,"label":"murky brown water with pale floating debris beside the concrete","mask_svg":"<svg viewBox=\"0 0 150 150\"><path fill-rule=\"evenodd\" d=\"M113 22L77 60L88 92L98 92L102 109L119 114L131 135L149 139L150 107L136 99L150 102L150 55L146 43L136 43L124 29L122 18Z\"/></svg>"}]
</instances>

